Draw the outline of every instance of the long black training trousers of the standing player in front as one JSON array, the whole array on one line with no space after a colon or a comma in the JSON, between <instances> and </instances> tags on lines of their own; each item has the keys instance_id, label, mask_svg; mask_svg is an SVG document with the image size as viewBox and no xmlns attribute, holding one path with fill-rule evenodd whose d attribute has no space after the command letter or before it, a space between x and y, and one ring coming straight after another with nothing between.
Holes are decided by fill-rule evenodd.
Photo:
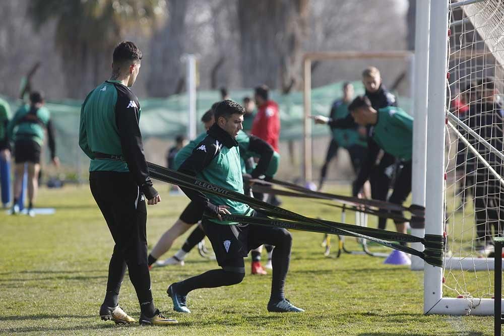
<instances>
[{"instance_id":1,"label":"long black training trousers of the standing player in front","mask_svg":"<svg viewBox=\"0 0 504 336\"><path fill-rule=\"evenodd\" d=\"M109 264L105 303L116 304L128 266L141 310L152 316L154 304L147 264L147 208L144 195L130 173L91 172L89 182L115 242Z\"/></svg>"}]
</instances>

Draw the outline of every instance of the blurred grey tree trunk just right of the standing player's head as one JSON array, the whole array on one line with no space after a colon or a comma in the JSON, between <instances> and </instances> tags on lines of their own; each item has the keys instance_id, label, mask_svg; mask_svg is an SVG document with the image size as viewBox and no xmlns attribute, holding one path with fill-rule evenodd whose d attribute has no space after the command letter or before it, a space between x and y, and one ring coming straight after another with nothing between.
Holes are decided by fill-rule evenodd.
<instances>
[{"instance_id":1,"label":"blurred grey tree trunk just right of the standing player's head","mask_svg":"<svg viewBox=\"0 0 504 336\"><path fill-rule=\"evenodd\" d=\"M187 1L168 0L168 23L153 36L151 42L151 73L147 91L151 97L166 97L176 91L184 74L180 61L184 52L185 13Z\"/></svg>"}]
</instances>

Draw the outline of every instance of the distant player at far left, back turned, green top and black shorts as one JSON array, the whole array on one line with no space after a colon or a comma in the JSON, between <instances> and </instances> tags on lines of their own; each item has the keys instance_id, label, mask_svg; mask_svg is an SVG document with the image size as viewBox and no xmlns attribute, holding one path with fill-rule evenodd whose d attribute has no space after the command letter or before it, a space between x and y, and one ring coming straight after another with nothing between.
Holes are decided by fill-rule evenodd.
<instances>
[{"instance_id":1,"label":"distant player at far left, back turned, green top and black shorts","mask_svg":"<svg viewBox=\"0 0 504 336\"><path fill-rule=\"evenodd\" d=\"M18 199L21 197L25 164L28 168L28 215L35 216L33 203L38 190L38 174L40 172L40 151L47 130L51 161L59 166L54 142L54 130L49 110L44 107L45 99L42 92L30 93L30 104L21 106L8 126L8 136L14 140L15 179L14 205L12 214L19 213Z\"/></svg>"}]
</instances>

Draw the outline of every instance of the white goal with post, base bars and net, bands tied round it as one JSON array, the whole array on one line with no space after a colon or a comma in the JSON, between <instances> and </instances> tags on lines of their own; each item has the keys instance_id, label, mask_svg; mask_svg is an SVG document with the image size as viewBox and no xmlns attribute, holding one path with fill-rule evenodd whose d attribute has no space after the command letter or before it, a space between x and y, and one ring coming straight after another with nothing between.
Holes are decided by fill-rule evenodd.
<instances>
[{"instance_id":1,"label":"white goal with post, base bars and net, bands tied round it","mask_svg":"<svg viewBox=\"0 0 504 336\"><path fill-rule=\"evenodd\" d=\"M494 258L478 246L504 220L502 20L502 0L431 2L425 233L448 247L443 269L425 264L426 314L494 314Z\"/></svg>"}]
</instances>

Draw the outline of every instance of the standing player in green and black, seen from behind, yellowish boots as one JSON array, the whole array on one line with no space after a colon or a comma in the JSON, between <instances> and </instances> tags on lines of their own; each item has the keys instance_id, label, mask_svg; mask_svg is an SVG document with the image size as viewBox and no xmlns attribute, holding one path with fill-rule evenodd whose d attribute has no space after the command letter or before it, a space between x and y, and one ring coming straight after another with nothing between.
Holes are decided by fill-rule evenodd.
<instances>
[{"instance_id":1,"label":"standing player in green and black, seen from behind, yellowish boots","mask_svg":"<svg viewBox=\"0 0 504 336\"><path fill-rule=\"evenodd\" d=\"M130 87L140 71L142 52L133 42L114 49L112 75L82 104L79 146L91 159L89 184L115 245L108 267L103 320L133 323L119 307L119 290L128 266L140 304L140 324L170 325L154 306L147 265L146 222L149 205L161 201L149 177L140 133L140 103Z\"/></svg>"}]
</instances>

